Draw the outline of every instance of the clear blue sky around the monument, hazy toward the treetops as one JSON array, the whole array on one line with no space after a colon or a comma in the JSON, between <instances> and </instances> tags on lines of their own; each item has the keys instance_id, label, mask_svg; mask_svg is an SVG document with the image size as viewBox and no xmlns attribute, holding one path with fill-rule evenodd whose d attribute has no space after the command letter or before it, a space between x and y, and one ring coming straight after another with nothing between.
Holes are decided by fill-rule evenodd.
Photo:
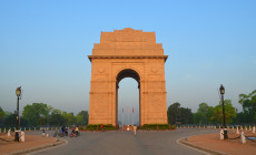
<instances>
[{"instance_id":1,"label":"clear blue sky around the monument, hazy toward the treetops","mask_svg":"<svg viewBox=\"0 0 256 155\"><path fill-rule=\"evenodd\" d=\"M14 111L14 90L22 85L21 110L33 102L88 110L87 55L101 31L132 28L156 32L169 55L167 106L179 102L194 112L201 102L214 106L224 84L225 99L242 110L238 94L256 89L255 6L254 0L2 0L0 106ZM138 106L135 80L120 85L119 107Z\"/></svg>"}]
</instances>

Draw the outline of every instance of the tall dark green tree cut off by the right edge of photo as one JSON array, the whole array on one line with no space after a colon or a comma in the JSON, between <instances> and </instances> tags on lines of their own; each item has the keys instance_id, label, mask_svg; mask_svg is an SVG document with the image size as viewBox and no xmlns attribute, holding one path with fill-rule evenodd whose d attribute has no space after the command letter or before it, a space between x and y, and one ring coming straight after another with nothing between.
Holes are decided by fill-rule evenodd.
<instances>
[{"instance_id":1,"label":"tall dark green tree cut off by the right edge of photo","mask_svg":"<svg viewBox=\"0 0 256 155\"><path fill-rule=\"evenodd\" d=\"M239 94L239 103L243 106L245 123L256 122L256 90L248 95Z\"/></svg>"}]
</instances>

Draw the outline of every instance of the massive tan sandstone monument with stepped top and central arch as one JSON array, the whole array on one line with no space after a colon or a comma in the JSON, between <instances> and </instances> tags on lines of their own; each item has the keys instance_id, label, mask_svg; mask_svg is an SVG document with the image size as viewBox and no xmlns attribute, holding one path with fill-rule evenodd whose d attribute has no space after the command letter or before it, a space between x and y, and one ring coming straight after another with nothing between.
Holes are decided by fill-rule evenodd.
<instances>
[{"instance_id":1,"label":"massive tan sandstone monument with stepped top and central arch","mask_svg":"<svg viewBox=\"0 0 256 155\"><path fill-rule=\"evenodd\" d=\"M139 89L139 123L167 124L165 61L155 32L126 28L101 32L91 62L89 124L118 125L118 89L132 78Z\"/></svg>"}]
</instances>

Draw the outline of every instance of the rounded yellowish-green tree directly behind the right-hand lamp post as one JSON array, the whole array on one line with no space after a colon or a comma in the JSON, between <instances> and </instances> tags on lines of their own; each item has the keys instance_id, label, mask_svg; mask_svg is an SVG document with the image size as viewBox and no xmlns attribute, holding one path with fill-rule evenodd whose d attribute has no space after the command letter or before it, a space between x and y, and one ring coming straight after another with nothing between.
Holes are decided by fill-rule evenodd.
<instances>
[{"instance_id":1,"label":"rounded yellowish-green tree directly behind the right-hand lamp post","mask_svg":"<svg viewBox=\"0 0 256 155\"><path fill-rule=\"evenodd\" d=\"M232 105L230 100L225 100L224 106L225 106L226 123L232 123L233 118L236 117L236 108ZM214 107L213 116L210 118L216 124L223 123L223 104L221 104L221 102L220 102L220 104L218 104Z\"/></svg>"}]
</instances>

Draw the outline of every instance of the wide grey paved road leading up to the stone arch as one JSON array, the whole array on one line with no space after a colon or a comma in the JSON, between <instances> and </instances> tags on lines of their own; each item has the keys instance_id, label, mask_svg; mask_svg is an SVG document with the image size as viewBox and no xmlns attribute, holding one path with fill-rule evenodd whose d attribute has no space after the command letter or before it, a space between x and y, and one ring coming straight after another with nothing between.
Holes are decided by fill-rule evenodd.
<instances>
[{"instance_id":1,"label":"wide grey paved road leading up to the stone arch","mask_svg":"<svg viewBox=\"0 0 256 155\"><path fill-rule=\"evenodd\" d=\"M79 137L65 137L67 145L33 153L36 155L200 155L177 140L217 130L177 130L168 132L81 132Z\"/></svg>"}]
</instances>

